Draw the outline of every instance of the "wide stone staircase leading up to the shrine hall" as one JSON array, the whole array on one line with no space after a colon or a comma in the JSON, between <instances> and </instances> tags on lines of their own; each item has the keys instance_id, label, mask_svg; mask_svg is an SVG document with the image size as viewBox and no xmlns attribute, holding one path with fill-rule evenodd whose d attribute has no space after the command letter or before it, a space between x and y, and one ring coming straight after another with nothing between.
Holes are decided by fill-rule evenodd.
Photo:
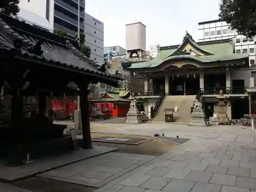
<instances>
[{"instance_id":1,"label":"wide stone staircase leading up to the shrine hall","mask_svg":"<svg viewBox=\"0 0 256 192\"><path fill-rule=\"evenodd\" d=\"M165 96L159 109L156 112L154 121L165 121L164 109L175 109L178 107L178 111L174 112L175 122L189 122L190 120L190 107L196 95L178 95L178 96Z\"/></svg>"}]
</instances>

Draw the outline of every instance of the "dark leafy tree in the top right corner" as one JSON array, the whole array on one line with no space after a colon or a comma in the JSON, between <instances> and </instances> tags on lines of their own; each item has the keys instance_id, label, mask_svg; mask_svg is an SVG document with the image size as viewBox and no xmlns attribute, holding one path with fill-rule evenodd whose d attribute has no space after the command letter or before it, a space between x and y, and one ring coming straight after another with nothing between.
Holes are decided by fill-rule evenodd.
<instances>
[{"instance_id":1,"label":"dark leafy tree in the top right corner","mask_svg":"<svg viewBox=\"0 0 256 192\"><path fill-rule=\"evenodd\" d=\"M219 17L241 35L256 35L256 0L221 0Z\"/></svg>"}]
</instances>

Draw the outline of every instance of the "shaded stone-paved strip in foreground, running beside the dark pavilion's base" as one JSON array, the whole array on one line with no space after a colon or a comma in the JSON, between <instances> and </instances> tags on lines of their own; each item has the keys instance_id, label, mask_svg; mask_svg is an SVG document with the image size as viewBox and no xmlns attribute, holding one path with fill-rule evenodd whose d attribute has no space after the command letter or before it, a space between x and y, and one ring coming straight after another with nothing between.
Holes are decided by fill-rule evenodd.
<instances>
[{"instance_id":1,"label":"shaded stone-paved strip in foreground, running beside the dark pavilion's base","mask_svg":"<svg viewBox=\"0 0 256 192\"><path fill-rule=\"evenodd\" d=\"M156 157L112 152L50 170L37 177L100 187L154 158Z\"/></svg>"}]
</instances>

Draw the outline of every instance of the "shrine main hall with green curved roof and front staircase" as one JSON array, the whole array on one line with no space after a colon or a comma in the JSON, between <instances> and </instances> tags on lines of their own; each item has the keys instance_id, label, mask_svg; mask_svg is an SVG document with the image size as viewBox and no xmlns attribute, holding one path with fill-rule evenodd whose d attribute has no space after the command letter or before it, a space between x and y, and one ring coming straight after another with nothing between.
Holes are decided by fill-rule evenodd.
<instances>
[{"instance_id":1,"label":"shrine main hall with green curved roof and front staircase","mask_svg":"<svg viewBox=\"0 0 256 192\"><path fill-rule=\"evenodd\" d=\"M226 121L256 114L249 104L255 100L256 69L249 67L248 58L248 53L235 53L232 39L196 42L186 32L180 45L159 47L153 60L123 63L123 67L131 72L131 82L137 82L131 90L142 92L139 97L150 117L160 120L164 108L177 107L177 121L187 121L185 113L197 98L207 118L223 113L221 120ZM152 106L157 108L154 112Z\"/></svg>"}]
</instances>

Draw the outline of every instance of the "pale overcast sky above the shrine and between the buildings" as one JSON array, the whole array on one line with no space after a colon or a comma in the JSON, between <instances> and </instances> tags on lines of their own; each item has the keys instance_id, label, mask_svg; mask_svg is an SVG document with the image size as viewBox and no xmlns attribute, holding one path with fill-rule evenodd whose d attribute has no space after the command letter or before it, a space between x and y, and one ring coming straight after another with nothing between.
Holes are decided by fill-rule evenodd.
<instances>
[{"instance_id":1,"label":"pale overcast sky above the shrine and between the buildings","mask_svg":"<svg viewBox=\"0 0 256 192\"><path fill-rule=\"evenodd\" d=\"M220 0L86 0L86 12L104 23L104 46L125 48L125 25L146 26L150 45L181 44L188 31L198 40L198 23L218 19Z\"/></svg>"}]
</instances>

